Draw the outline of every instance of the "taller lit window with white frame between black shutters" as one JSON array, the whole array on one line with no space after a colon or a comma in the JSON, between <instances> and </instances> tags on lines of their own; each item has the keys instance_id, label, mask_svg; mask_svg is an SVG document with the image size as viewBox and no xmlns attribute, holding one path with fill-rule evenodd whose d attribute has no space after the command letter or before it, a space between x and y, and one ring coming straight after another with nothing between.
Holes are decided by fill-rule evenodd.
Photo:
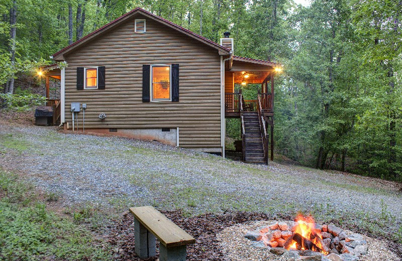
<instances>
[{"instance_id":1,"label":"taller lit window with white frame between black shutters","mask_svg":"<svg viewBox=\"0 0 402 261\"><path fill-rule=\"evenodd\" d=\"M171 101L170 65L151 66L151 101Z\"/></svg>"}]
</instances>

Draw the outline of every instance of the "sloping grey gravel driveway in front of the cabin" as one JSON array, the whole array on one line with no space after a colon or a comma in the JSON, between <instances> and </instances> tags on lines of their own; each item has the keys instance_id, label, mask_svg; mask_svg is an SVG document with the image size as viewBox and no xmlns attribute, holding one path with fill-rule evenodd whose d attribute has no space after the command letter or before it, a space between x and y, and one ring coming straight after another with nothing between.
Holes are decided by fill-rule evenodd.
<instances>
[{"instance_id":1,"label":"sloping grey gravel driveway in front of the cabin","mask_svg":"<svg viewBox=\"0 0 402 261\"><path fill-rule=\"evenodd\" d=\"M305 211L319 220L351 217L360 225L382 218L392 232L402 221L402 195L393 182L276 163L249 165L157 142L0 124L0 165L61 195L65 206L152 204L189 214Z\"/></svg>"}]
</instances>

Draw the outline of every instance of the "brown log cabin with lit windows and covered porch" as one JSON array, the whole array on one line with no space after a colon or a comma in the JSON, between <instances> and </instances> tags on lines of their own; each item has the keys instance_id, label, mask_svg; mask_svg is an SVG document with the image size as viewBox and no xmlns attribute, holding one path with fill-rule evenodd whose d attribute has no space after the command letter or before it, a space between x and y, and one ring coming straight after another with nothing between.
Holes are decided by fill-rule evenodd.
<instances>
[{"instance_id":1,"label":"brown log cabin with lit windows and covered porch","mask_svg":"<svg viewBox=\"0 0 402 261\"><path fill-rule=\"evenodd\" d=\"M266 163L273 159L273 80L281 64L233 50L229 33L218 44L136 8L50 57L68 66L42 68L47 89L49 77L60 80L60 100L48 102L65 129L222 156L225 118L239 118L243 160ZM235 84L249 83L261 85L256 100L235 92Z\"/></svg>"}]
</instances>

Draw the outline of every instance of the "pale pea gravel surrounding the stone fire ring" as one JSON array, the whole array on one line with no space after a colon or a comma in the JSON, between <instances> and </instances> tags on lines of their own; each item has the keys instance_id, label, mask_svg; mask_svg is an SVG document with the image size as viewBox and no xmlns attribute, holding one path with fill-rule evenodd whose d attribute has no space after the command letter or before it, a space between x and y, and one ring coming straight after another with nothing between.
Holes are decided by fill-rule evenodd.
<instances>
[{"instance_id":1,"label":"pale pea gravel surrounding the stone fire ring","mask_svg":"<svg viewBox=\"0 0 402 261\"><path fill-rule=\"evenodd\" d=\"M219 241L220 247L223 249L223 252L233 261L295 260L292 257L273 254L269 251L269 249L253 247L252 244L255 242L244 237L247 231L255 230L257 227L260 226L267 226L274 221L256 221L246 224L236 224L234 226L227 227L220 233L218 233L217 240ZM349 230L344 231L346 232L346 234L353 233L352 231ZM386 242L365 235L363 235L363 238L367 241L368 252L367 254L359 257L360 261L400 260L391 250L387 248ZM323 257L322 260L328 260L328 259Z\"/></svg>"}]
</instances>

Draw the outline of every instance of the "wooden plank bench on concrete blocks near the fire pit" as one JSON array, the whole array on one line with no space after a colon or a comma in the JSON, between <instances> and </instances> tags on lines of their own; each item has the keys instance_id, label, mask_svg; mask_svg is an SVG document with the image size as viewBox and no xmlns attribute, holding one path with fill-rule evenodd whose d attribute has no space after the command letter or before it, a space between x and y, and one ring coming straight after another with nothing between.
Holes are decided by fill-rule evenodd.
<instances>
[{"instance_id":1,"label":"wooden plank bench on concrete blocks near the fire pit","mask_svg":"<svg viewBox=\"0 0 402 261\"><path fill-rule=\"evenodd\" d=\"M185 261L186 245L195 239L152 206L132 207L135 252L142 259L155 256L155 236L160 261Z\"/></svg>"}]
</instances>

